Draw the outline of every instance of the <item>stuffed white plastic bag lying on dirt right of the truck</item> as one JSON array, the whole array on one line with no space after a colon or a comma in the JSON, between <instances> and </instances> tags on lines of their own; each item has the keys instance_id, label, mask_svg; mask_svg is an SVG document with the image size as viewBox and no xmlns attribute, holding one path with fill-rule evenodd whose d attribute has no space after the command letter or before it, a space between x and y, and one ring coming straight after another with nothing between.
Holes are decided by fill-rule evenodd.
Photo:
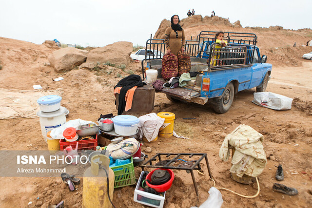
<instances>
[{"instance_id":1,"label":"stuffed white plastic bag lying on dirt right of the truck","mask_svg":"<svg viewBox=\"0 0 312 208\"><path fill-rule=\"evenodd\" d=\"M270 92L254 93L253 103L274 110L289 110L292 108L292 98Z\"/></svg>"}]
</instances>

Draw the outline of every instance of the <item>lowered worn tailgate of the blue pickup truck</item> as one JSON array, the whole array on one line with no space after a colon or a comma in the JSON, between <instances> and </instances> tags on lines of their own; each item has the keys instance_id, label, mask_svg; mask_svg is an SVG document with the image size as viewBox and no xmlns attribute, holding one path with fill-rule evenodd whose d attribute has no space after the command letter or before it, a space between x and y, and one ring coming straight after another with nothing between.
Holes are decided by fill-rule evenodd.
<instances>
[{"instance_id":1,"label":"lowered worn tailgate of the blue pickup truck","mask_svg":"<svg viewBox=\"0 0 312 208\"><path fill-rule=\"evenodd\" d=\"M200 93L189 88L164 88L160 91L161 93L173 96L180 100L185 100L187 102L194 102L200 105L204 105L208 102L208 97L200 97Z\"/></svg>"}]
</instances>

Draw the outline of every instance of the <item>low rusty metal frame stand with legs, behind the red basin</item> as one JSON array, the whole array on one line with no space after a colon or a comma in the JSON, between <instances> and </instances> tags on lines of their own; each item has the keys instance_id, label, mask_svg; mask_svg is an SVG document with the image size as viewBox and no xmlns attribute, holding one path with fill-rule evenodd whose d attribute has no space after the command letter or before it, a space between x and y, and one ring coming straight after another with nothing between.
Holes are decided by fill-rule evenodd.
<instances>
[{"instance_id":1,"label":"low rusty metal frame stand with legs, behind the red basin","mask_svg":"<svg viewBox=\"0 0 312 208\"><path fill-rule=\"evenodd\" d=\"M169 157L173 157L173 158L167 159ZM190 160L188 161L192 161L193 165L190 163L187 163L185 166L182 166L181 164L178 166L173 166L177 161L183 160L182 158L185 158L185 157L189 157ZM144 168L164 168L164 169L186 170L188 173L190 172L192 175L192 180L193 180L193 184L195 187L196 195L198 196L198 190L197 190L193 170L201 170L200 161L202 161L204 158L206 160L206 165L208 168L209 176L212 179L213 176L210 171L209 162L208 162L206 153L157 153L151 159L149 159L148 161L140 165L140 167L142 168L142 170L144 170ZM157 163L159 163L160 161L166 161L166 162L161 162L162 164L157 165Z\"/></svg>"}]
</instances>

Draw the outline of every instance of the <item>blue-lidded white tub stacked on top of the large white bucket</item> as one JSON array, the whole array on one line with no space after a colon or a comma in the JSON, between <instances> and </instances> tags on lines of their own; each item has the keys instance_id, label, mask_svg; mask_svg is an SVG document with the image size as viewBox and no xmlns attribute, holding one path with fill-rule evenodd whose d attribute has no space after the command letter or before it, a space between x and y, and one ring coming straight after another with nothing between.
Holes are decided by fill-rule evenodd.
<instances>
[{"instance_id":1,"label":"blue-lidded white tub stacked on top of the large white bucket","mask_svg":"<svg viewBox=\"0 0 312 208\"><path fill-rule=\"evenodd\" d=\"M59 95L46 95L40 97L37 103L42 112L54 112L59 110L61 100L62 98Z\"/></svg>"}]
</instances>

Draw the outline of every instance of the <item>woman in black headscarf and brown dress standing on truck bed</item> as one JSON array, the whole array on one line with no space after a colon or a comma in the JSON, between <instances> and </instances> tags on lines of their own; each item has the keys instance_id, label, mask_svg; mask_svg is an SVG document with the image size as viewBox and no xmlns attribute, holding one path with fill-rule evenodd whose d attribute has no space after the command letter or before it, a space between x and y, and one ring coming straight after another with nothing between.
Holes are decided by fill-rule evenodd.
<instances>
[{"instance_id":1,"label":"woman in black headscarf and brown dress standing on truck bed","mask_svg":"<svg viewBox=\"0 0 312 208\"><path fill-rule=\"evenodd\" d=\"M173 53L177 56L179 51L185 51L185 33L179 23L179 16L174 15L171 17L171 26L167 28L165 33L167 54Z\"/></svg>"}]
</instances>

